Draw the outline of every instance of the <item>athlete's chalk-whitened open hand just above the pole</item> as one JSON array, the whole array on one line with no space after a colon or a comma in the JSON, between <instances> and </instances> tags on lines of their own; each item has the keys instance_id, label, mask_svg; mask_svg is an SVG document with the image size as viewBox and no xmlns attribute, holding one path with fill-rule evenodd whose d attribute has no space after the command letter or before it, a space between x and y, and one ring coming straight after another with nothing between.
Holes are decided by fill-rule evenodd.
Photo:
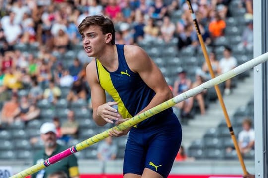
<instances>
[{"instance_id":1,"label":"athlete's chalk-whitened open hand just above the pole","mask_svg":"<svg viewBox=\"0 0 268 178\"><path fill-rule=\"evenodd\" d=\"M100 105L97 108L97 116L103 118L108 123L114 123L113 120L117 121L120 118L118 111L113 108L113 105L117 105L116 102L108 102L103 105Z\"/></svg>"}]
</instances>

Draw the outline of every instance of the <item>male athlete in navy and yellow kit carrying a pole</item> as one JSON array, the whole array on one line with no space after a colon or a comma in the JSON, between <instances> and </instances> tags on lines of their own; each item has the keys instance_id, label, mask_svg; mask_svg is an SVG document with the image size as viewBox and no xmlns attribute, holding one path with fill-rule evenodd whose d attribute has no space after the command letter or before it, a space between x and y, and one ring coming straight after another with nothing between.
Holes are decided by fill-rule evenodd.
<instances>
[{"instance_id":1,"label":"male athlete in navy and yellow kit carrying a pole","mask_svg":"<svg viewBox=\"0 0 268 178\"><path fill-rule=\"evenodd\" d=\"M113 22L102 15L86 17L78 27L89 57L86 68L93 119L99 126L121 123L170 98L162 73L140 47L115 45ZM107 91L115 102L106 103ZM112 106L118 105L118 111ZM110 136L129 137L124 156L124 178L166 178L178 153L182 130L169 108Z\"/></svg>"}]
</instances>

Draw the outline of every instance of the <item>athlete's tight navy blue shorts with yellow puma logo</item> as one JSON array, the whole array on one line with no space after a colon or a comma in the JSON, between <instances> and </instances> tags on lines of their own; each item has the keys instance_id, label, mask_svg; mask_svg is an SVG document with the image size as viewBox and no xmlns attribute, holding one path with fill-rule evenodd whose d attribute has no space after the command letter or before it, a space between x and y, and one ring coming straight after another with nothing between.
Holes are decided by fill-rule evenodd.
<instances>
[{"instance_id":1,"label":"athlete's tight navy blue shorts with yellow puma logo","mask_svg":"<svg viewBox=\"0 0 268 178\"><path fill-rule=\"evenodd\" d=\"M123 174L142 175L149 168L166 178L182 141L178 119L153 128L132 128L124 157Z\"/></svg>"}]
</instances>

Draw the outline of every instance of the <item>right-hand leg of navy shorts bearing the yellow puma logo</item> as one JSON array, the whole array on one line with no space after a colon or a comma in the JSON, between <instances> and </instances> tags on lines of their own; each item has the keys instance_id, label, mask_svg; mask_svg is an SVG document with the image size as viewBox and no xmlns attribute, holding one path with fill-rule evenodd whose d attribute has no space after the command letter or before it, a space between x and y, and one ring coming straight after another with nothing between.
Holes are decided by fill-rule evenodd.
<instances>
[{"instance_id":1,"label":"right-hand leg of navy shorts bearing the yellow puma logo","mask_svg":"<svg viewBox=\"0 0 268 178\"><path fill-rule=\"evenodd\" d=\"M164 127L162 130L157 131L157 134L149 144L145 167L166 178L179 151L182 130L181 126Z\"/></svg>"}]
</instances>

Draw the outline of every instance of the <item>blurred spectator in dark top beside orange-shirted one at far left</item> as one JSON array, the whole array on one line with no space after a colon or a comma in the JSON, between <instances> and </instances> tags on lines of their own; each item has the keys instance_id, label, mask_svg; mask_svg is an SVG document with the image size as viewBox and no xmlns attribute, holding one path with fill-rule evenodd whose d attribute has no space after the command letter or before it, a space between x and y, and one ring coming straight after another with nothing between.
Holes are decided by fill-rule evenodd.
<instances>
[{"instance_id":1,"label":"blurred spectator in dark top beside orange-shirted one at far left","mask_svg":"<svg viewBox=\"0 0 268 178\"><path fill-rule=\"evenodd\" d=\"M35 105L29 102L27 96L22 96L19 103L19 111L15 120L21 120L28 122L32 119L35 119L40 114L40 109Z\"/></svg>"}]
</instances>

